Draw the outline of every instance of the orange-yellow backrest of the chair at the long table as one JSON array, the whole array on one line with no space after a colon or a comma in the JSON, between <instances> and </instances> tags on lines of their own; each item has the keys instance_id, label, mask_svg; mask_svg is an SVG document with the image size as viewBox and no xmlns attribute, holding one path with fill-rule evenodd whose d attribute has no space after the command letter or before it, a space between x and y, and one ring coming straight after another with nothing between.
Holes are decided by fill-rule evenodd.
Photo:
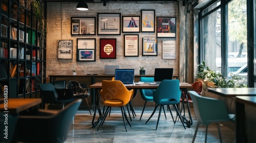
<instances>
[{"instance_id":1,"label":"orange-yellow backrest of the chair at the long table","mask_svg":"<svg viewBox=\"0 0 256 143\"><path fill-rule=\"evenodd\" d=\"M133 89L128 90L124 84L119 81L102 81L102 90L100 92L100 98L102 101L119 99L123 103L123 106L129 103L133 95Z\"/></svg>"}]
</instances>

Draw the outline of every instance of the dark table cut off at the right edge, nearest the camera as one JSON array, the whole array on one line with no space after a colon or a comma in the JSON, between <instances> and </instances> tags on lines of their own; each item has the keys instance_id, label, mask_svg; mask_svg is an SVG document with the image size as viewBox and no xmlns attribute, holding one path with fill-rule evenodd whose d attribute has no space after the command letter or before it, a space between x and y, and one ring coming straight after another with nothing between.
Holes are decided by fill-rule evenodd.
<instances>
[{"instance_id":1,"label":"dark table cut off at the right edge, nearest the camera","mask_svg":"<svg viewBox=\"0 0 256 143\"><path fill-rule=\"evenodd\" d=\"M254 135L255 132L247 132L246 130L246 121L245 121L245 105L256 107L256 94L254 96L237 96L236 97L236 137L237 142L251 142L252 140L248 140L246 135L252 135L250 138L256 138ZM251 125L252 126L252 125ZM255 131L255 130L254 130ZM255 140L254 140L255 141Z\"/></svg>"}]
</instances>

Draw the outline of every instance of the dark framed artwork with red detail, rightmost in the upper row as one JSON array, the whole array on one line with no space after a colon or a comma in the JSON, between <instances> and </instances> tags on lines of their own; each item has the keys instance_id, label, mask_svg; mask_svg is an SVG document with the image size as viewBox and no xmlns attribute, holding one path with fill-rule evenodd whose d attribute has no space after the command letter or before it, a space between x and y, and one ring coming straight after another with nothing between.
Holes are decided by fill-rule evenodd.
<instances>
[{"instance_id":1,"label":"dark framed artwork with red detail, rightmost in the upper row","mask_svg":"<svg viewBox=\"0 0 256 143\"><path fill-rule=\"evenodd\" d=\"M176 38L176 17L157 17L157 37Z\"/></svg>"}]
</instances>

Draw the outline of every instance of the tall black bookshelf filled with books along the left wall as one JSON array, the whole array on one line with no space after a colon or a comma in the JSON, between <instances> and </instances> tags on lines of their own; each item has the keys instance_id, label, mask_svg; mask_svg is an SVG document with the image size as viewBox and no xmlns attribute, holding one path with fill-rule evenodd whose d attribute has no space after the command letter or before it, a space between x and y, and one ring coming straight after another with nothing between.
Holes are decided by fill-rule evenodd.
<instances>
[{"instance_id":1,"label":"tall black bookshelf filled with books along the left wall","mask_svg":"<svg viewBox=\"0 0 256 143\"><path fill-rule=\"evenodd\" d=\"M37 0L44 9L44 1ZM40 31L32 0L0 3L0 98L8 86L9 98L39 98L46 82L46 36Z\"/></svg>"}]
</instances>

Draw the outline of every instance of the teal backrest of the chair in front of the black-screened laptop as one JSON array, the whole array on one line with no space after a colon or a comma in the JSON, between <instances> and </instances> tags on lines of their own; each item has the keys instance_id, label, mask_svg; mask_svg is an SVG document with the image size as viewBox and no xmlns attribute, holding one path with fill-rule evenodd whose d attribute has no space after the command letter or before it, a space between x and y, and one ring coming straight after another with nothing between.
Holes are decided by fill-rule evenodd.
<instances>
[{"instance_id":1,"label":"teal backrest of the chair in front of the black-screened laptop","mask_svg":"<svg viewBox=\"0 0 256 143\"><path fill-rule=\"evenodd\" d=\"M156 104L180 102L181 90L179 80L162 80L157 90L153 90L153 99Z\"/></svg>"}]
</instances>

